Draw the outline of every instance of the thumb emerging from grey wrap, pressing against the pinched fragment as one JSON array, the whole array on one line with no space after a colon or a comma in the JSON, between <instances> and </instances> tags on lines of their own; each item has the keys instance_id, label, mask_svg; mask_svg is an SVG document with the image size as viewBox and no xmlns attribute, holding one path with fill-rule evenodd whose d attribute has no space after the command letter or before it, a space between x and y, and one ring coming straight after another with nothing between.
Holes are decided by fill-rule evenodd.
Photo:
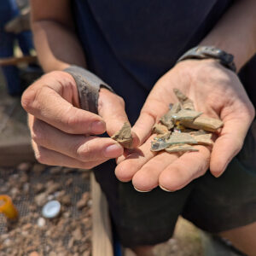
<instances>
[{"instance_id":1,"label":"thumb emerging from grey wrap, pressing against the pinched fragment","mask_svg":"<svg viewBox=\"0 0 256 256\"><path fill-rule=\"evenodd\" d=\"M125 102L122 97L114 94L108 89L102 88L99 92L98 113L105 121L108 135L111 137L119 131L125 122L129 122L125 113ZM131 131L133 137L133 148L139 144L136 133Z\"/></svg>"}]
</instances>

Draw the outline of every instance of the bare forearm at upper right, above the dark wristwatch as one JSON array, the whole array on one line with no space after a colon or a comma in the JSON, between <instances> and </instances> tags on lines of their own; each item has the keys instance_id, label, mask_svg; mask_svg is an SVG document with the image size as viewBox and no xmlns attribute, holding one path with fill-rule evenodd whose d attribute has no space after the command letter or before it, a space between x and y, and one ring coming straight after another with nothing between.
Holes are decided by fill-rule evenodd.
<instances>
[{"instance_id":1,"label":"bare forearm at upper right, above the dark wristwatch","mask_svg":"<svg viewBox=\"0 0 256 256\"><path fill-rule=\"evenodd\" d=\"M235 56L237 70L256 53L256 1L238 0L201 41Z\"/></svg>"}]
</instances>

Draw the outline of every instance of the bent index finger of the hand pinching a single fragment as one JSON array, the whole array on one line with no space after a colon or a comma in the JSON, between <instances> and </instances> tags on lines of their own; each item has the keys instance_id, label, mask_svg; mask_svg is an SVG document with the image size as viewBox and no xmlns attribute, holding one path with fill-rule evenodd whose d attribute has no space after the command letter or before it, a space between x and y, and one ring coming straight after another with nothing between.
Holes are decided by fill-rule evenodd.
<instances>
[{"instance_id":1,"label":"bent index finger of the hand pinching a single fragment","mask_svg":"<svg viewBox=\"0 0 256 256\"><path fill-rule=\"evenodd\" d=\"M28 113L67 133L101 134L106 130L99 115L73 107L47 85L32 85L24 92L21 102Z\"/></svg>"}]
</instances>

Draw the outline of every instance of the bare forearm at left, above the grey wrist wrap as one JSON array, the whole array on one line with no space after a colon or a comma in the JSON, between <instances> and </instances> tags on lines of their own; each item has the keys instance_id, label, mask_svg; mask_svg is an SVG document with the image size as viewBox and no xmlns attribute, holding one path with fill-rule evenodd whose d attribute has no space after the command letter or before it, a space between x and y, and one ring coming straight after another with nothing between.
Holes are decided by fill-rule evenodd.
<instances>
[{"instance_id":1,"label":"bare forearm at left, above the grey wrist wrap","mask_svg":"<svg viewBox=\"0 0 256 256\"><path fill-rule=\"evenodd\" d=\"M84 51L74 33L69 0L32 0L32 32L45 72L70 64L85 67Z\"/></svg>"}]
</instances>

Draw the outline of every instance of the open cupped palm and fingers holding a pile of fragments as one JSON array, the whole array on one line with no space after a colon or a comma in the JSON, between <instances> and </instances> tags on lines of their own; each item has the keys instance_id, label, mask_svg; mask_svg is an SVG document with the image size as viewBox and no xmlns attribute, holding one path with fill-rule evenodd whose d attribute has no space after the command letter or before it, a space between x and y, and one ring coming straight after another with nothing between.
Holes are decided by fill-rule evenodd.
<instances>
[{"instance_id":1,"label":"open cupped palm and fingers holding a pile of fragments","mask_svg":"<svg viewBox=\"0 0 256 256\"><path fill-rule=\"evenodd\" d=\"M150 151L154 123L167 112L169 103L177 102L174 88L188 96L197 111L224 122L212 148L198 145L198 152L181 156ZM132 128L141 146L128 157L119 158L116 176L124 182L132 180L140 191L158 185L167 191L182 189L209 167L212 175L218 177L240 151L253 117L253 105L235 73L213 60L181 61L151 90Z\"/></svg>"}]
</instances>

